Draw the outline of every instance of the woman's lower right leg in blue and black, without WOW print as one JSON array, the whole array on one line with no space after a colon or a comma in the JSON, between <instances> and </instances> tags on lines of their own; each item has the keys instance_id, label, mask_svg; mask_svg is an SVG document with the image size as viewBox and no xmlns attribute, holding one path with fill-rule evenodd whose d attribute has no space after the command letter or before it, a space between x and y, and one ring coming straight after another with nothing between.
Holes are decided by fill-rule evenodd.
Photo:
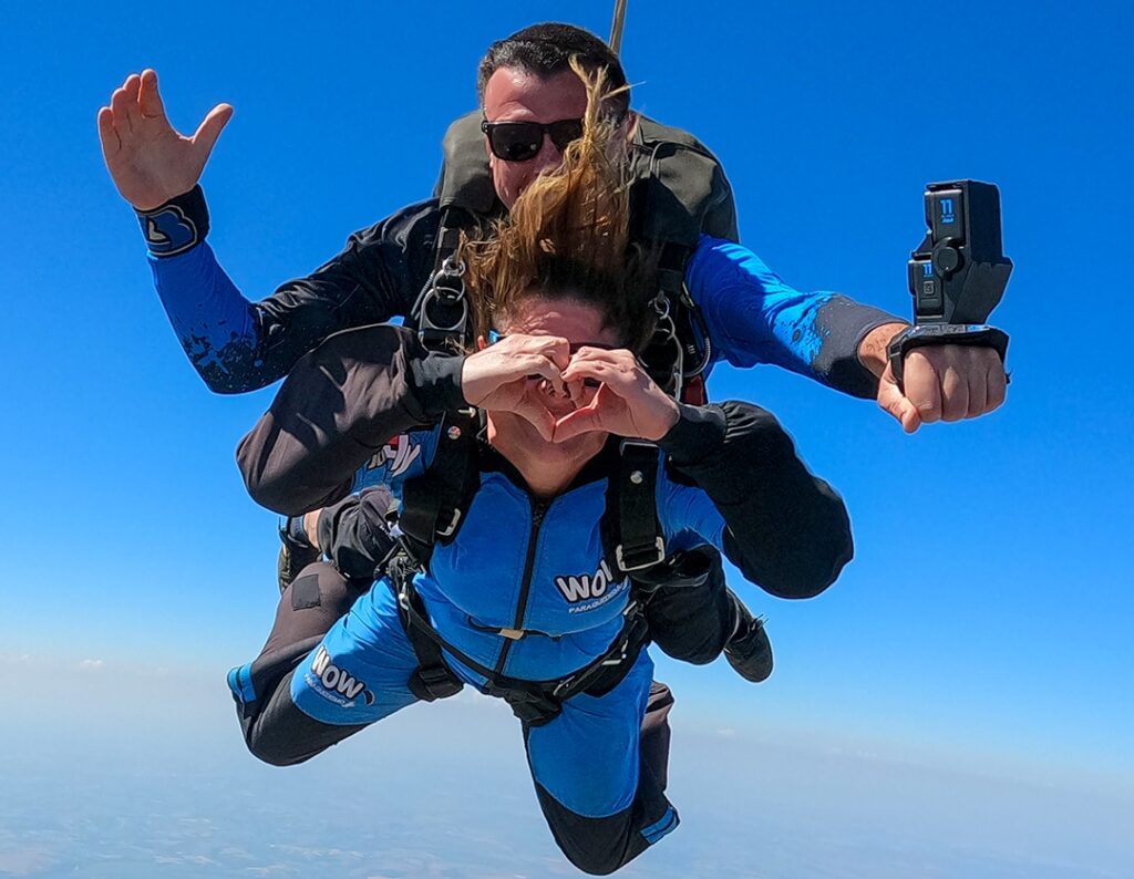
<instances>
[{"instance_id":1,"label":"woman's lower right leg in blue and black, without WOW print","mask_svg":"<svg viewBox=\"0 0 1134 879\"><path fill-rule=\"evenodd\" d=\"M604 876L677 827L665 795L672 704L651 692L643 651L601 696L581 694L551 722L524 730L540 808L556 843L579 870Z\"/></svg>"}]
</instances>

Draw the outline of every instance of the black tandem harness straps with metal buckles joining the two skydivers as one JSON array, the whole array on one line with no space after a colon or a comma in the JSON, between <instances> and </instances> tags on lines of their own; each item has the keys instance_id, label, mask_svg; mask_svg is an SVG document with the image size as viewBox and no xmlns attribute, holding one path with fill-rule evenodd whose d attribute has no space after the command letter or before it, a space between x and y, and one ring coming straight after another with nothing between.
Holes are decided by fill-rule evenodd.
<instances>
[{"instance_id":1,"label":"black tandem harness straps with metal buckles joining the two skydivers","mask_svg":"<svg viewBox=\"0 0 1134 879\"><path fill-rule=\"evenodd\" d=\"M460 236L503 211L485 160L481 119L479 111L457 119L445 138L445 164L435 193L441 222L433 272L412 314L418 338L431 350L450 350L469 340L464 267L457 261ZM711 349L700 313L685 289L685 268L702 231L738 239L731 187L720 163L695 138L650 119L638 124L631 161L631 234L635 240L659 248L658 327L642 361L668 394L704 403L702 373ZM388 559L387 574L418 661L409 688L425 701L459 692L463 683L446 664L448 654L482 676L488 682L486 692L505 699L521 720L538 726L555 718L573 695L608 692L625 677L649 641L642 610L648 590L638 590L635 578L634 597L624 611L618 637L602 656L559 681L499 675L446 642L430 624L413 581L416 573L428 569L434 544L455 539L480 487L479 433L475 413L447 415L432 463L404 487L395 532L400 533L400 548ZM619 443L601 525L606 560L612 572L638 577L666 560L657 515L658 466L653 443ZM519 639L530 633L500 629L499 634Z\"/></svg>"}]
</instances>

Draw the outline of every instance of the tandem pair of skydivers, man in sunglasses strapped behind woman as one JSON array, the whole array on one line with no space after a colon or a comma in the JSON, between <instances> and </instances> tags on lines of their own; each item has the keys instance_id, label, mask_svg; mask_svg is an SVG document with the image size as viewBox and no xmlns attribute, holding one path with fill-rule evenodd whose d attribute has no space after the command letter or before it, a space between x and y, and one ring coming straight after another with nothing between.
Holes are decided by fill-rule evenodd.
<instances>
[{"instance_id":1,"label":"tandem pair of skydivers, man in sunglasses strapped behind woman","mask_svg":"<svg viewBox=\"0 0 1134 879\"><path fill-rule=\"evenodd\" d=\"M146 71L115 93L100 129L202 377L231 392L290 372L240 466L253 497L295 516L342 568L304 568L261 656L230 676L249 747L298 762L472 685L521 718L557 843L606 873L677 823L663 795L671 698L651 685L646 642L688 648L691 632L708 633L712 653L754 640L718 552L786 598L820 592L850 557L841 501L776 421L703 403L711 364L777 363L874 395L906 429L979 415L1004 389L995 353L941 346L907 357L903 396L886 344L905 324L794 290L729 242L735 214L711 155L640 120L626 91L589 101L573 58L625 85L577 28L493 44L481 158L458 122L437 198L254 304L204 243L196 186L230 110L171 151ZM658 174L659 155L685 158ZM675 179L687 185L665 188ZM642 212L666 203L676 208ZM445 319L455 311L460 321ZM396 314L406 328L339 332ZM455 336L472 344L455 353ZM958 374L985 391L964 411ZM304 529L298 517L323 507ZM652 611L667 600L670 612ZM682 618L682 602L700 607Z\"/></svg>"}]
</instances>

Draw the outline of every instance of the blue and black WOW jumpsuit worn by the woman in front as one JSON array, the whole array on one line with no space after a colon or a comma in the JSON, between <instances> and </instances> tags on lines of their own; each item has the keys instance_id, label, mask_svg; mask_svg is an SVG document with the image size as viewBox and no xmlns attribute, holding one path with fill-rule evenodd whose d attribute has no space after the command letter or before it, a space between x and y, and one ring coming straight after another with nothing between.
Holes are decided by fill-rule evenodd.
<instances>
[{"instance_id":1,"label":"blue and black WOW jumpsuit worn by the woman in front","mask_svg":"<svg viewBox=\"0 0 1134 879\"><path fill-rule=\"evenodd\" d=\"M299 361L242 441L237 458L252 497L297 515L374 482L399 492L430 466L443 413L464 405L460 363L428 354L401 328L332 337ZM655 504L667 541L711 544L784 598L819 593L850 558L843 501L807 472L767 412L683 405L659 447ZM598 455L553 498L533 497L490 448L476 462L479 485L459 530L433 548L414 581L428 618L448 644L498 674L569 676L609 650L632 601L601 533L611 458ZM279 764L308 759L416 701L407 682L417 657L388 584L365 591L325 635L293 633L289 641L280 620L304 603L293 592L303 581L285 592L261 657L230 675L249 749ZM462 681L484 685L451 654L447 660ZM645 650L627 665L617 683L568 699L549 722L524 725L552 835L593 873L618 869L678 820L663 793L671 699L657 685L651 691Z\"/></svg>"}]
</instances>

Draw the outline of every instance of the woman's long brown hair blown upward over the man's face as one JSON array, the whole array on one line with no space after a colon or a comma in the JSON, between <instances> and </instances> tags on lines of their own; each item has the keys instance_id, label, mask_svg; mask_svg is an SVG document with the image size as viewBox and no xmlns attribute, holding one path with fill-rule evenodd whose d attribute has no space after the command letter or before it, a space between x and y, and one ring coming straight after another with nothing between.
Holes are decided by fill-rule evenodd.
<instances>
[{"instance_id":1,"label":"woman's long brown hair blown upward over the man's face","mask_svg":"<svg viewBox=\"0 0 1134 879\"><path fill-rule=\"evenodd\" d=\"M583 136L562 164L541 174L492 223L488 237L462 242L460 257L476 337L530 297L568 298L602 311L631 350L653 332L653 259L629 243L629 176L611 154L616 122L600 112L611 90L603 71L572 68L586 86Z\"/></svg>"}]
</instances>

